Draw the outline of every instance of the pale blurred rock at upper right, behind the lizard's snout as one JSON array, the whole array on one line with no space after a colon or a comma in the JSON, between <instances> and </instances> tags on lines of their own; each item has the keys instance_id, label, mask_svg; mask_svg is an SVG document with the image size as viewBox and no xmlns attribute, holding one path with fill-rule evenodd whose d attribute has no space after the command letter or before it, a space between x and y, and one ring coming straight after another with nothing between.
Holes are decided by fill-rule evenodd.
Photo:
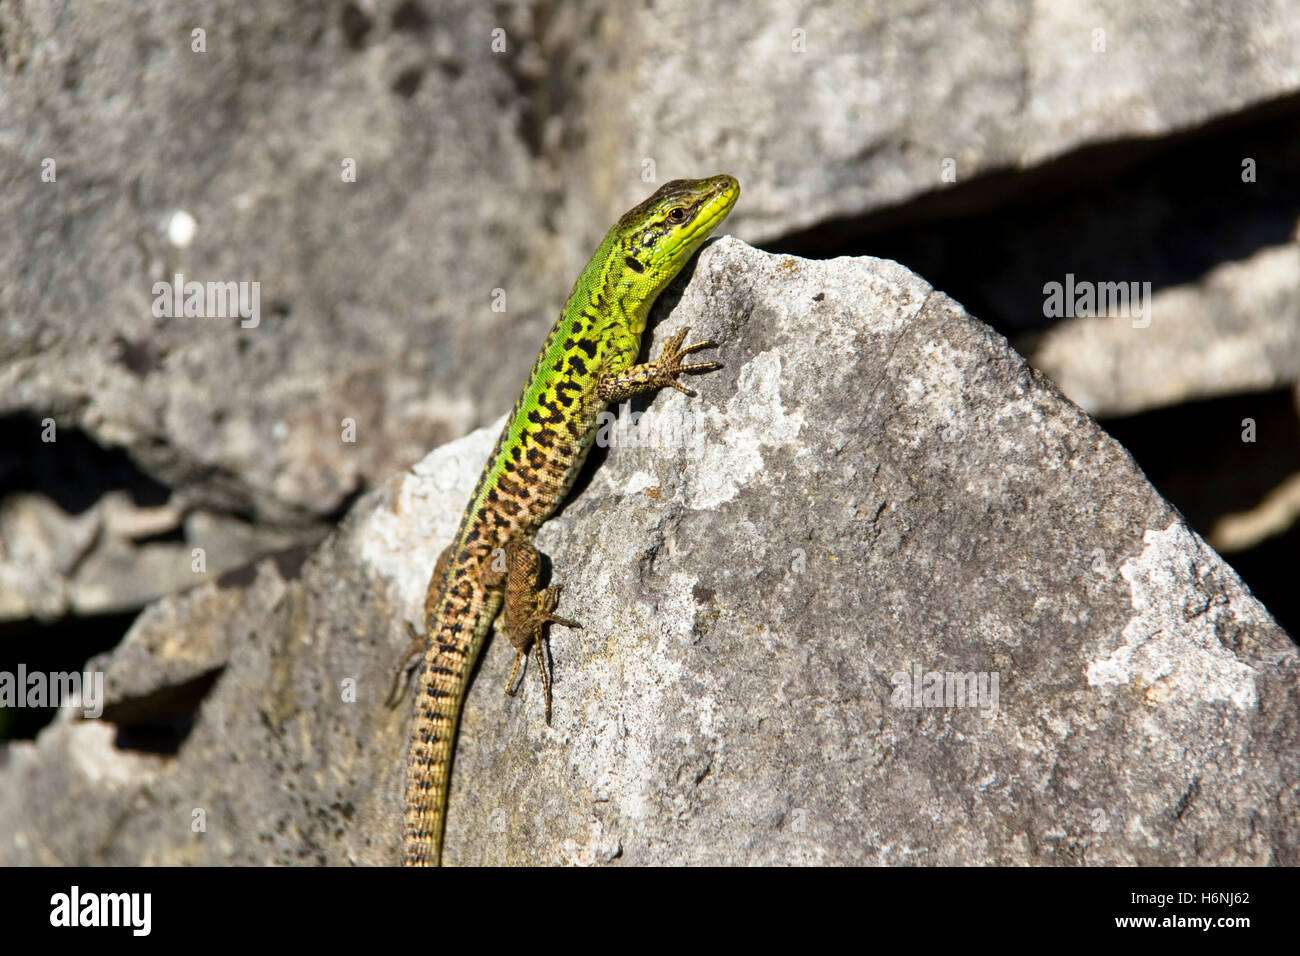
<instances>
[{"instance_id":1,"label":"pale blurred rock at upper right, behind the lizard's snout","mask_svg":"<svg viewBox=\"0 0 1300 956\"><path fill-rule=\"evenodd\" d=\"M568 5L549 25L549 70L534 82L559 86L556 105L577 103L556 118L556 139L584 144L564 165L568 221L592 221L593 191L615 207L640 198L629 169L653 163L672 178L716 166L745 187L731 229L766 242L852 230L954 182L1294 96L1294 4L1234 10L1231 30L1223 17L1213 0L800 12L772 0L601 16ZM1034 189L1030 177L1004 185Z\"/></svg>"}]
</instances>

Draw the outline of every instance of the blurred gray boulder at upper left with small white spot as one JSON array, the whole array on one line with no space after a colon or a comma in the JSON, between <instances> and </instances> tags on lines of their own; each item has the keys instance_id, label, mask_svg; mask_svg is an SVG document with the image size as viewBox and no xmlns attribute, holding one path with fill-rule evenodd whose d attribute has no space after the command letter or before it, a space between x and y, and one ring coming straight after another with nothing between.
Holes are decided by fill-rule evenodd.
<instances>
[{"instance_id":1,"label":"blurred gray boulder at upper left with small white spot","mask_svg":"<svg viewBox=\"0 0 1300 956\"><path fill-rule=\"evenodd\" d=\"M311 525L511 401L567 278L486 10L187 7L0 10L0 414ZM259 282L256 324L156 315L177 274Z\"/></svg>"}]
</instances>

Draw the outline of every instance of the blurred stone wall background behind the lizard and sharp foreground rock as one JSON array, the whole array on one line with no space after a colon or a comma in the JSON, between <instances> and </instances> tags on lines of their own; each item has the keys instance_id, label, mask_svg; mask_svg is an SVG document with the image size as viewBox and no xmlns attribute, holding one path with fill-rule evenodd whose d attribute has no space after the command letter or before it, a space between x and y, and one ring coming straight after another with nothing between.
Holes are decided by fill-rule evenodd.
<instances>
[{"instance_id":1,"label":"blurred stone wall background behind the lizard and sharp foreground rock","mask_svg":"<svg viewBox=\"0 0 1300 956\"><path fill-rule=\"evenodd\" d=\"M716 172L724 233L1006 336L1295 635L1297 170L1297 0L0 3L0 670L300 563ZM156 316L177 273L260 323ZM1066 281L1149 315L1049 315Z\"/></svg>"}]
</instances>

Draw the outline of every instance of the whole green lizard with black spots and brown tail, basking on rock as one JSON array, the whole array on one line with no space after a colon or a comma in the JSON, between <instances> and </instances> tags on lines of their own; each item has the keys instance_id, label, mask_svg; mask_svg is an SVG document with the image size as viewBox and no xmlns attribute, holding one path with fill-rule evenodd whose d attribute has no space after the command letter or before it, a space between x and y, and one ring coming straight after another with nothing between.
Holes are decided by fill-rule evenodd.
<instances>
[{"instance_id":1,"label":"whole green lizard with black spots and brown tail, basking on rock","mask_svg":"<svg viewBox=\"0 0 1300 956\"><path fill-rule=\"evenodd\" d=\"M460 519L438 558L425 596L424 671L407 761L406 858L437 865L442 857L447 784L456 726L469 672L502 605L502 631L515 648L506 691L536 652L551 719L551 687L542 646L556 617L559 587L538 588L541 558L533 536L564 501L611 403L662 388L696 393L682 372L719 368L684 364L682 329L654 362L634 364L655 298L725 219L740 195L731 176L675 179L620 219L582 269L546 338L528 384L502 429ZM410 626L408 626L410 627Z\"/></svg>"}]
</instances>

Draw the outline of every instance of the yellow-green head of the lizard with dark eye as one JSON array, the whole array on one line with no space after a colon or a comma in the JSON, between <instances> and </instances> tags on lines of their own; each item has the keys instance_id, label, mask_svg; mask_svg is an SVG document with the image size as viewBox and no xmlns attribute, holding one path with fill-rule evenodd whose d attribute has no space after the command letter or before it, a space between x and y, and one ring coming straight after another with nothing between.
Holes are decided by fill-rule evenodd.
<instances>
[{"instance_id":1,"label":"yellow-green head of the lizard with dark eye","mask_svg":"<svg viewBox=\"0 0 1300 956\"><path fill-rule=\"evenodd\" d=\"M611 230L619 237L627 276L659 287L671 280L736 204L732 176L666 182Z\"/></svg>"}]
</instances>

